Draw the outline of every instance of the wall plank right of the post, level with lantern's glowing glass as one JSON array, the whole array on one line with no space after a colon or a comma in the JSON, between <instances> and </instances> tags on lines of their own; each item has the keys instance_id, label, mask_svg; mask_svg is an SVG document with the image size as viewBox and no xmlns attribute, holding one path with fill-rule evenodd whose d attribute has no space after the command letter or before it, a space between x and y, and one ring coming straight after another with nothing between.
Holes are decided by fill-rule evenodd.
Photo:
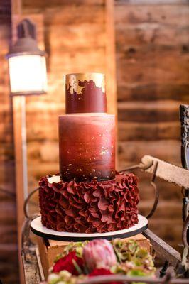
<instances>
[{"instance_id":1,"label":"wall plank right of the post, level with lantern's glowing glass","mask_svg":"<svg viewBox=\"0 0 189 284\"><path fill-rule=\"evenodd\" d=\"M117 80L126 83L155 82L158 84L168 84L171 82L188 83L188 54L183 55L178 52L151 52L150 48L146 48L143 55L136 58L131 55L117 55ZM133 48L133 50L135 50ZM137 51L136 51L137 53ZM124 70L124 72L121 72Z\"/></svg>"}]
</instances>

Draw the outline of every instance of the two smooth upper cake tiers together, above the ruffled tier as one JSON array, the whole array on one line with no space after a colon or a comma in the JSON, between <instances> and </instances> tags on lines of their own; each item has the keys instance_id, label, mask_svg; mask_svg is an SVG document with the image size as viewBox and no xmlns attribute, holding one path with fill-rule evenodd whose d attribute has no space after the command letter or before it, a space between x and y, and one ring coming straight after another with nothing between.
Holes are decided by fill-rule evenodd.
<instances>
[{"instance_id":1,"label":"two smooth upper cake tiers together, above the ruffled tier","mask_svg":"<svg viewBox=\"0 0 189 284\"><path fill-rule=\"evenodd\" d=\"M65 75L66 114L59 116L60 178L115 177L115 116L107 114L104 74Z\"/></svg>"}]
</instances>

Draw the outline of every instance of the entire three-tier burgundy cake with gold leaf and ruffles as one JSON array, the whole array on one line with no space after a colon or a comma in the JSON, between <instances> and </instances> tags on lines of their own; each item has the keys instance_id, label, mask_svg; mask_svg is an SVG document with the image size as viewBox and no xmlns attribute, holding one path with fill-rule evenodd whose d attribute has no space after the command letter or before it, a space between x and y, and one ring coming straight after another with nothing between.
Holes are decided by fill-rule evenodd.
<instances>
[{"instance_id":1,"label":"entire three-tier burgundy cake with gold leaf and ruffles","mask_svg":"<svg viewBox=\"0 0 189 284\"><path fill-rule=\"evenodd\" d=\"M138 223L134 174L115 172L115 117L107 114L104 75L65 77L59 117L60 176L42 178L41 220L56 231L107 232Z\"/></svg>"}]
</instances>

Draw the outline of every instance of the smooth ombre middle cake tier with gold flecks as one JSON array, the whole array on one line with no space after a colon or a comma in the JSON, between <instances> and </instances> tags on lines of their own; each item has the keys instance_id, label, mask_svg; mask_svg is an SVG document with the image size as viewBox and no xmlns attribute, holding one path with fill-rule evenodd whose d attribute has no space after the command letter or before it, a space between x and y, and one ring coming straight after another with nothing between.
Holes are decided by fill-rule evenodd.
<instances>
[{"instance_id":1,"label":"smooth ombre middle cake tier with gold flecks","mask_svg":"<svg viewBox=\"0 0 189 284\"><path fill-rule=\"evenodd\" d=\"M112 180L115 176L115 116L60 116L59 153L63 181Z\"/></svg>"}]
</instances>

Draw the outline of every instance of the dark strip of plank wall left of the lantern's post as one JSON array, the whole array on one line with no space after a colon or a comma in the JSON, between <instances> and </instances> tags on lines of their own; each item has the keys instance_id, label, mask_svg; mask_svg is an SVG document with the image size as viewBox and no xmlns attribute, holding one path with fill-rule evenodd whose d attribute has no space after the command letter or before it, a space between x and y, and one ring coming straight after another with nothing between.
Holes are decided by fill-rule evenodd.
<instances>
[{"instance_id":1,"label":"dark strip of plank wall left of the lantern's post","mask_svg":"<svg viewBox=\"0 0 189 284\"><path fill-rule=\"evenodd\" d=\"M0 2L0 279L18 283L13 125L5 55L11 42L11 1Z\"/></svg>"}]
</instances>

